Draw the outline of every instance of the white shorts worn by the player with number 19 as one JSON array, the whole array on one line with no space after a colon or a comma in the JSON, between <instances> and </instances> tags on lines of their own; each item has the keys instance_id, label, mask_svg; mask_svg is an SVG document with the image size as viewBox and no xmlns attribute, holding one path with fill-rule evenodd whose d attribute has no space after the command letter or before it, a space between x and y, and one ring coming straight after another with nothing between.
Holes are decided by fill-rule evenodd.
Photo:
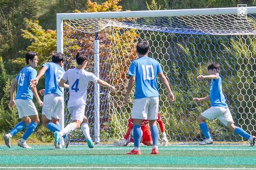
<instances>
[{"instance_id":1,"label":"white shorts worn by the player with number 19","mask_svg":"<svg viewBox=\"0 0 256 170\"><path fill-rule=\"evenodd\" d=\"M38 114L37 108L35 107L35 104L33 101L27 101L23 99L16 99L16 108L19 113L19 118L23 118L25 116L32 116Z\"/></svg>"}]
</instances>

